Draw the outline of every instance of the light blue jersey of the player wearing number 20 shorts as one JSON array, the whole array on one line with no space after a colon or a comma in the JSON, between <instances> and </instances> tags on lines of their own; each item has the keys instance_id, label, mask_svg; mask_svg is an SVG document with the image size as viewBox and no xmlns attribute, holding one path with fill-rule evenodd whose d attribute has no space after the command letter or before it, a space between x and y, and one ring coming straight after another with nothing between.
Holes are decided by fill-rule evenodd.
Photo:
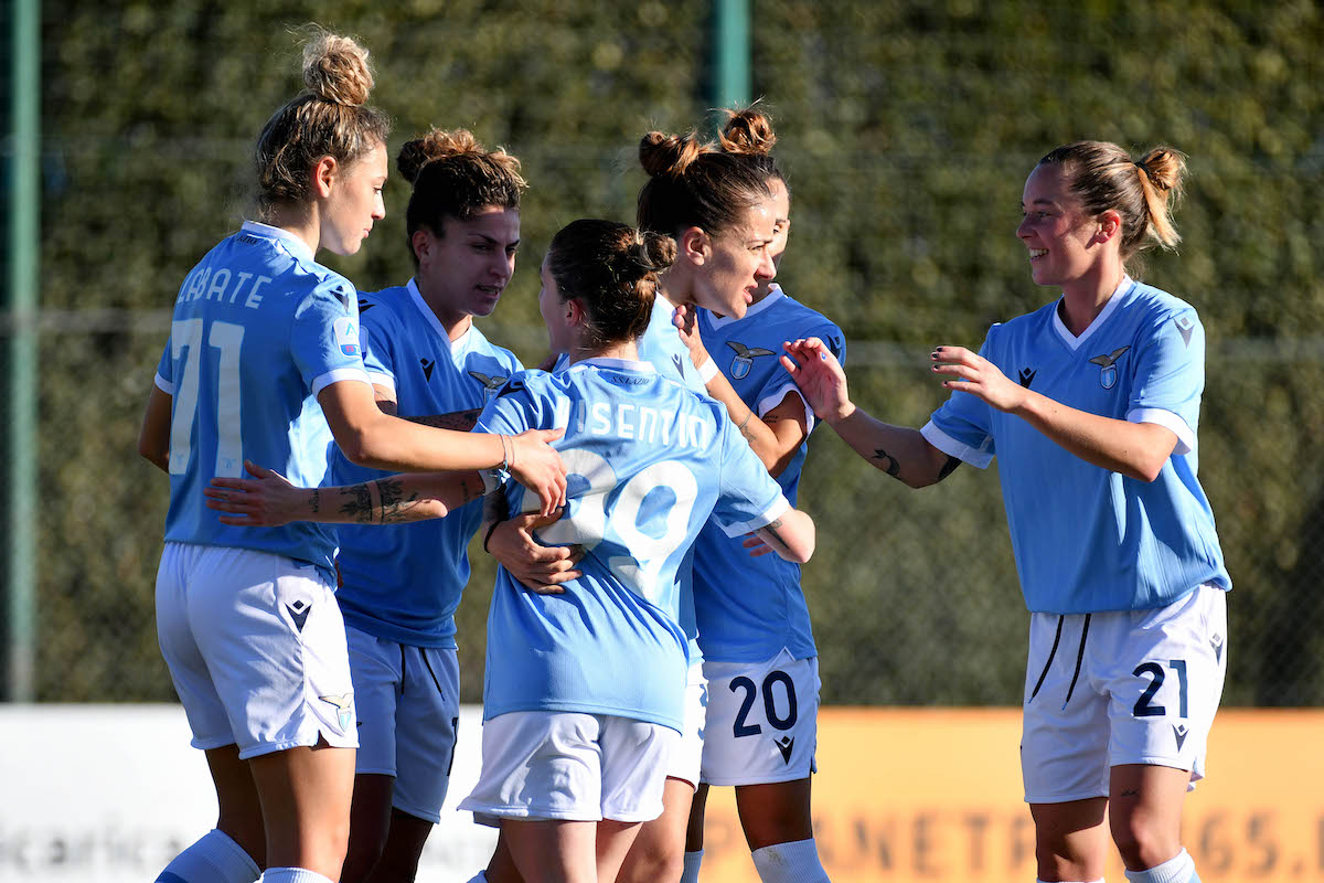
<instances>
[{"instance_id":1,"label":"light blue jersey of the player wearing number 20 shorts","mask_svg":"<svg viewBox=\"0 0 1324 883\"><path fill-rule=\"evenodd\" d=\"M817 336L845 361L841 328L782 293L779 286L752 304L743 319L699 311L704 348L740 400L760 418L785 400L800 398L779 356L786 340ZM809 429L813 410L805 404ZM800 470L809 441L800 445L777 477L792 506L800 491ZM800 589L800 565L776 555L749 557L744 537L727 536L714 522L694 544L694 612L703 658L715 662L763 662L782 649L794 659L818 655L809 625L809 608Z\"/></svg>"}]
</instances>

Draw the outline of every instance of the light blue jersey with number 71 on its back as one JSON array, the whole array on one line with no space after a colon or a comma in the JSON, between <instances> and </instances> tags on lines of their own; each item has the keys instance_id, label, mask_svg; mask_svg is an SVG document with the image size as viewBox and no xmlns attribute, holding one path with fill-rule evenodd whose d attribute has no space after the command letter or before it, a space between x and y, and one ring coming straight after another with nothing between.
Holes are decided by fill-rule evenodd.
<instances>
[{"instance_id":1,"label":"light blue jersey with number 71 on its back","mask_svg":"<svg viewBox=\"0 0 1324 883\"><path fill-rule=\"evenodd\" d=\"M166 539L274 552L332 577L335 539L310 522L221 524L204 506L216 475L269 466L299 487L323 483L331 432L316 396L368 381L354 286L301 238L245 221L184 279L156 385L171 396Z\"/></svg>"}]
</instances>

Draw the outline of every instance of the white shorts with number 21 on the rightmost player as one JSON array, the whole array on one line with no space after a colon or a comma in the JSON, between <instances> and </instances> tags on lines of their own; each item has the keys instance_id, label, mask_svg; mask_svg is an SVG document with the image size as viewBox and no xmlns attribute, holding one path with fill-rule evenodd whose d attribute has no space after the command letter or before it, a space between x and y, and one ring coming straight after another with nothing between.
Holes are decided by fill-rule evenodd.
<instances>
[{"instance_id":1,"label":"white shorts with number 21 on the rightmost player","mask_svg":"<svg viewBox=\"0 0 1324 883\"><path fill-rule=\"evenodd\" d=\"M1031 614L1021 737L1027 804L1106 797L1120 764L1204 778L1227 666L1225 596L1204 585L1155 610Z\"/></svg>"}]
</instances>

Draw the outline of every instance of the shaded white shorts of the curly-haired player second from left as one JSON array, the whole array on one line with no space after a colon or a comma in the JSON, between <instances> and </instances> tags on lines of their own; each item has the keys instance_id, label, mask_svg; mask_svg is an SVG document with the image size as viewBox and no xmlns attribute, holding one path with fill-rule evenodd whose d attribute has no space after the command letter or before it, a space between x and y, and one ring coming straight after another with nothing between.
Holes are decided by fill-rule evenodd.
<instances>
[{"instance_id":1,"label":"shaded white shorts of the curly-haired player second from left","mask_svg":"<svg viewBox=\"0 0 1324 883\"><path fill-rule=\"evenodd\" d=\"M346 637L359 708L355 772L395 776L391 805L436 825L455 760L459 659L454 650L412 647L354 626Z\"/></svg>"}]
</instances>

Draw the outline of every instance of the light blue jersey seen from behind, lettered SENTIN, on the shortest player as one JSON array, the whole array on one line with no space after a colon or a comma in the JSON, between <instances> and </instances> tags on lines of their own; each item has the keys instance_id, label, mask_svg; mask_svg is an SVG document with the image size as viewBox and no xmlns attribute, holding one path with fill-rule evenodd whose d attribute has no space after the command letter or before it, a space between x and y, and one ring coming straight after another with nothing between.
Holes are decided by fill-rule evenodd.
<instances>
[{"instance_id":1,"label":"light blue jersey seen from behind, lettered SENTIN, on the shortest player","mask_svg":"<svg viewBox=\"0 0 1324 883\"><path fill-rule=\"evenodd\" d=\"M726 409L649 363L587 359L556 375L526 372L478 422L493 433L560 426L553 447L569 473L569 506L538 539L581 544L583 576L544 596L498 571L483 715L572 711L679 731L688 661L677 572L686 552L710 514L739 536L788 503ZM524 490L507 488L519 511Z\"/></svg>"}]
</instances>

